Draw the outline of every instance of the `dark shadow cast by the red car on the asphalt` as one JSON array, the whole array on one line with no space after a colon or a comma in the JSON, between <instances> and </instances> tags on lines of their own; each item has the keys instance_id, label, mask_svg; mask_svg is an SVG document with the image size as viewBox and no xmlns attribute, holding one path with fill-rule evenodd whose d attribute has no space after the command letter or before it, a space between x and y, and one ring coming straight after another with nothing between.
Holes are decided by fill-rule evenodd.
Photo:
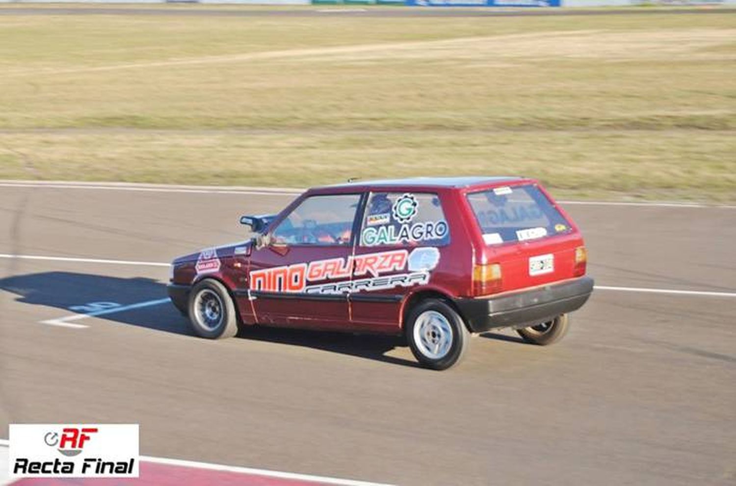
<instances>
[{"instance_id":1,"label":"dark shadow cast by the red car on the asphalt","mask_svg":"<svg viewBox=\"0 0 736 486\"><path fill-rule=\"evenodd\" d=\"M86 314L94 309L95 305L102 306L102 308L111 303L130 306L135 303L166 298L166 285L151 278L120 278L77 272L41 272L1 278L0 289L18 295L15 299L17 302L60 309L58 315L50 316L54 319L68 317L74 315L75 312ZM39 317L38 320L49 319L47 312L42 315L43 317ZM95 316L94 319L194 336L187 318L182 316L171 303L102 314ZM85 323L85 320L74 322ZM385 353L394 348L406 346L406 342L400 337L315 332L265 326L244 326L238 332L238 337L314 348L393 364L417 366L414 361L408 359L385 356Z\"/></svg>"}]
</instances>

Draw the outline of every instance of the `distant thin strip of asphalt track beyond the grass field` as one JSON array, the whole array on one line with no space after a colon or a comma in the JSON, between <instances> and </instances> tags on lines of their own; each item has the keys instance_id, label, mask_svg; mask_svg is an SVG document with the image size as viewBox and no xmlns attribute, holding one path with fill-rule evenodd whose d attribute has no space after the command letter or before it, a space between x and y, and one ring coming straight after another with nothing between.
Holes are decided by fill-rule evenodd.
<instances>
[{"instance_id":1,"label":"distant thin strip of asphalt track beyond the grass field","mask_svg":"<svg viewBox=\"0 0 736 486\"><path fill-rule=\"evenodd\" d=\"M550 15L678 15L687 13L736 13L730 7L690 7L676 9L639 8L639 9L559 9L559 8L444 8L444 7L365 7L361 5L324 7L277 7L271 9L251 8L207 8L180 5L171 8L163 7L7 7L0 4L0 15L183 15L188 17L323 17L340 15L347 17L523 17Z\"/></svg>"}]
</instances>

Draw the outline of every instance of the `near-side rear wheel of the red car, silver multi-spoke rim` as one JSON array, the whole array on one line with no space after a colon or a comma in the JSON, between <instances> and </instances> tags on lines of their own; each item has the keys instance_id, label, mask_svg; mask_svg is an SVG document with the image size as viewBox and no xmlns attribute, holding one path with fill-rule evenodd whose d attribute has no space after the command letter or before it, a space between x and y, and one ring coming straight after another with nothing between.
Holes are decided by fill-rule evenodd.
<instances>
[{"instance_id":1,"label":"near-side rear wheel of the red car, silver multi-spoke rim","mask_svg":"<svg viewBox=\"0 0 736 486\"><path fill-rule=\"evenodd\" d=\"M453 307L439 299L422 300L408 314L406 340L423 367L447 370L467 351L470 332Z\"/></svg>"}]
</instances>

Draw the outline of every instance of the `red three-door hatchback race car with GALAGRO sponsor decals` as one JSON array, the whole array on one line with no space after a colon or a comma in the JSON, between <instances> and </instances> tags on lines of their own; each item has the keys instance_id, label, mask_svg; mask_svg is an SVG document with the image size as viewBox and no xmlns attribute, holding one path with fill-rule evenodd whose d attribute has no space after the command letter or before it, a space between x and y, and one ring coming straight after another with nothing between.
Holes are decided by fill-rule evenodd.
<instances>
[{"instance_id":1,"label":"red three-door hatchback race car with GALAGRO sponsor decals","mask_svg":"<svg viewBox=\"0 0 736 486\"><path fill-rule=\"evenodd\" d=\"M403 334L443 370L471 333L559 340L593 288L575 223L526 178L325 186L241 223L249 241L172 264L169 296L201 337L255 324Z\"/></svg>"}]
</instances>

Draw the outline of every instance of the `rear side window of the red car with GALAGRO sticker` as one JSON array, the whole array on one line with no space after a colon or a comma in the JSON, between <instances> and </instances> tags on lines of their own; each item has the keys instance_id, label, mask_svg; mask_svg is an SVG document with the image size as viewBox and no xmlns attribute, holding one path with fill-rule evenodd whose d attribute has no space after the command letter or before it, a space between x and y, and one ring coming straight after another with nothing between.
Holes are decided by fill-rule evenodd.
<instances>
[{"instance_id":1,"label":"rear side window of the red car with GALAGRO sticker","mask_svg":"<svg viewBox=\"0 0 736 486\"><path fill-rule=\"evenodd\" d=\"M362 247L381 245L439 247L450 243L437 194L373 192L361 225Z\"/></svg>"}]
</instances>

